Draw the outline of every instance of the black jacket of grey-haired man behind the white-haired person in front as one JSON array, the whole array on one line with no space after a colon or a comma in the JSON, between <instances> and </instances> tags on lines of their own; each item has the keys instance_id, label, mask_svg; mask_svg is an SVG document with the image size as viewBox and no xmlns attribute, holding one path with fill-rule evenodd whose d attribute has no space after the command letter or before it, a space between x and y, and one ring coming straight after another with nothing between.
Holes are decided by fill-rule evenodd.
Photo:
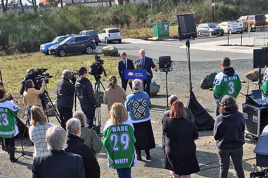
<instances>
[{"instance_id":1,"label":"black jacket of grey-haired man behind the white-haired person in front","mask_svg":"<svg viewBox=\"0 0 268 178\"><path fill-rule=\"evenodd\" d=\"M84 161L85 177L99 178L100 166L96 160L93 150L84 144L84 139L73 134L68 134L67 144L68 147L65 149L66 152L82 156Z\"/></svg>"}]
</instances>

